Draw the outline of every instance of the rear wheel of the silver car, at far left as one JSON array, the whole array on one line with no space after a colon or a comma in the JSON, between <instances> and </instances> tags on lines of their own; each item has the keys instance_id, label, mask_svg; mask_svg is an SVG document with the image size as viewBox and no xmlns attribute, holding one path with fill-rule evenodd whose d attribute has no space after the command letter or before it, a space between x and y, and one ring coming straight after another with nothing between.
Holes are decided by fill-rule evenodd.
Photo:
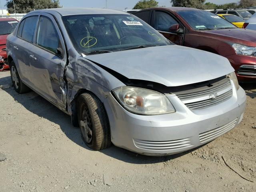
<instances>
[{"instance_id":1,"label":"rear wheel of the silver car, at far left","mask_svg":"<svg viewBox=\"0 0 256 192\"><path fill-rule=\"evenodd\" d=\"M22 80L20 79L20 76L18 74L18 70L14 64L14 61L10 63L10 71L11 71L11 78L12 78L12 85L16 92L18 93L27 93L30 91L30 88L26 86Z\"/></svg>"}]
</instances>

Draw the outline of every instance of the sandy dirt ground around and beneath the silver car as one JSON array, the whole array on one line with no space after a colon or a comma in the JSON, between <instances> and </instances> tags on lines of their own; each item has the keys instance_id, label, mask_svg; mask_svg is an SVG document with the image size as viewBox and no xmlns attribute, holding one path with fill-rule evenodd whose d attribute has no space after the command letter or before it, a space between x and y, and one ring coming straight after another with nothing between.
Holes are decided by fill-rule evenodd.
<instances>
[{"instance_id":1,"label":"sandy dirt ground around and beneath the silver car","mask_svg":"<svg viewBox=\"0 0 256 192\"><path fill-rule=\"evenodd\" d=\"M6 84L10 72L0 72L0 85ZM242 86L247 106L238 127L201 148L165 157L115 146L92 151L70 117L38 94L0 88L0 153L6 156L0 192L255 192L256 84Z\"/></svg>"}]
</instances>

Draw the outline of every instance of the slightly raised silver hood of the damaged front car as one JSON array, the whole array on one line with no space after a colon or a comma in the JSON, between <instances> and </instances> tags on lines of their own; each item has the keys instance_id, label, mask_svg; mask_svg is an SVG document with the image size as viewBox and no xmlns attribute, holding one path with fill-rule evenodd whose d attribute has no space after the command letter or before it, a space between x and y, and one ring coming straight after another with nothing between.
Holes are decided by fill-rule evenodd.
<instances>
[{"instance_id":1,"label":"slightly raised silver hood of the damaged front car","mask_svg":"<svg viewBox=\"0 0 256 192\"><path fill-rule=\"evenodd\" d=\"M85 58L129 79L181 86L215 79L234 69L219 55L170 45L96 54Z\"/></svg>"}]
</instances>

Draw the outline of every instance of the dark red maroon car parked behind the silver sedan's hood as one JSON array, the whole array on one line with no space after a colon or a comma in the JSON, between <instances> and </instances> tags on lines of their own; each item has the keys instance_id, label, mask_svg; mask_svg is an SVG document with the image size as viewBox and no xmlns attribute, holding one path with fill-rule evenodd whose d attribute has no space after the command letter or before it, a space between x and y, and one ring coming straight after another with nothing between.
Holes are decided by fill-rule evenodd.
<instances>
[{"instance_id":1,"label":"dark red maroon car parked behind the silver sedan's hood","mask_svg":"<svg viewBox=\"0 0 256 192\"><path fill-rule=\"evenodd\" d=\"M193 8L150 8L134 15L175 44L228 58L240 82L256 81L256 31L239 29L213 13Z\"/></svg>"}]
</instances>

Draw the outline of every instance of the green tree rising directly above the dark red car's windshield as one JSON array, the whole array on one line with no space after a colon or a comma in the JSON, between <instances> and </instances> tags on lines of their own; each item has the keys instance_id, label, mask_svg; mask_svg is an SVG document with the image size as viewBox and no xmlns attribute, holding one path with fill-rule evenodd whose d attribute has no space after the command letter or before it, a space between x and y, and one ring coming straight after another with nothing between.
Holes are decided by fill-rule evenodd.
<instances>
[{"instance_id":1,"label":"green tree rising directly above the dark red car's windshield","mask_svg":"<svg viewBox=\"0 0 256 192\"><path fill-rule=\"evenodd\" d=\"M171 0L173 7L190 7L204 9L205 0Z\"/></svg>"}]
</instances>

